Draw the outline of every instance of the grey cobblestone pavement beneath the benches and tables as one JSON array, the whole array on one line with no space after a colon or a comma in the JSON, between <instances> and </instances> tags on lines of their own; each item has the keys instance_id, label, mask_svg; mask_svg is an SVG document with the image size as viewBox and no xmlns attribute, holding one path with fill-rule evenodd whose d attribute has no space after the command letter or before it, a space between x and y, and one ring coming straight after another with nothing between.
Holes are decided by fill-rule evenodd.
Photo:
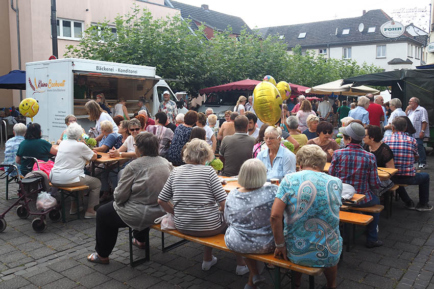
<instances>
[{"instance_id":1,"label":"grey cobblestone pavement beneath the benches and tables","mask_svg":"<svg viewBox=\"0 0 434 289\"><path fill-rule=\"evenodd\" d=\"M3 160L3 151L0 151ZM434 157L428 156L428 172L433 176ZM431 178L431 188L433 188ZM417 202L417 187L409 194ZM10 189L11 195L16 195ZM432 189L431 189L432 192ZM431 194L431 203L434 203ZM85 198L85 203L87 198ZM5 181L0 181L0 213L13 200L5 200ZM82 212L84 213L84 212ZM379 237L383 247L367 249L364 237L356 239L351 252L344 253L337 272L340 288L434 288L434 215L408 211L401 201L393 202L393 216L381 214ZM69 216L68 216L69 217ZM83 217L83 215L82 215ZM235 256L214 250L219 258L210 271L201 270L203 248L187 243L170 252L161 252L161 234L151 230L151 261L134 269L129 267L128 230L119 230L109 265L95 265L86 260L94 251L95 220L74 220L63 224L47 220L43 233L12 209L5 216L7 228L0 233L0 289L12 288L244 288L247 275L235 275ZM361 233L361 229L358 230ZM178 241L165 238L168 244ZM134 249L134 255L144 256ZM261 288L272 288L272 272L264 272L267 281ZM325 284L316 278L316 287ZM289 285L287 285L289 287ZM307 288L303 277L302 288Z\"/></svg>"}]
</instances>

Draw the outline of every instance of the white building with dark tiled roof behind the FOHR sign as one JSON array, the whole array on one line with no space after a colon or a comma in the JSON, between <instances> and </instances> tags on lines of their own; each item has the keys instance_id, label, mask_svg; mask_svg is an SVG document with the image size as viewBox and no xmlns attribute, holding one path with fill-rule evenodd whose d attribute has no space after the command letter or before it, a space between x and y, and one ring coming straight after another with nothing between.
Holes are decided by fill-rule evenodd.
<instances>
[{"instance_id":1,"label":"white building with dark tiled roof behind the FOHR sign","mask_svg":"<svg viewBox=\"0 0 434 289\"><path fill-rule=\"evenodd\" d=\"M380 32L392 18L382 10L363 12L360 17L336 19L254 30L262 37L276 35L288 46L288 52L300 45L302 53L311 51L325 58L351 59L358 64L374 64L385 71L413 69L426 61L427 33L413 24L397 38Z\"/></svg>"}]
</instances>

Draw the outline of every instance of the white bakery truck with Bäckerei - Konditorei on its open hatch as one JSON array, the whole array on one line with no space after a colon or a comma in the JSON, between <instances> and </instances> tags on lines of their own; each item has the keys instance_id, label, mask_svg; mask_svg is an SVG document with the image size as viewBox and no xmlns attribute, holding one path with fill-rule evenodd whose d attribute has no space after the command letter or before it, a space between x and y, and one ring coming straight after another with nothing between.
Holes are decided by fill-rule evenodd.
<instances>
[{"instance_id":1,"label":"white bakery truck with B\u00e4ckerei - Konditorei on its open hatch","mask_svg":"<svg viewBox=\"0 0 434 289\"><path fill-rule=\"evenodd\" d=\"M95 126L84 104L95 100L97 94L104 94L109 107L124 98L132 117L139 109L139 98L144 98L145 106L155 115L165 90L178 101L167 83L155 74L155 67L150 66L76 58L26 63L26 97L39 103L33 122L41 125L42 137L50 142L60 138L69 114L77 117L86 132ZM181 102L177 103L182 108Z\"/></svg>"}]
</instances>

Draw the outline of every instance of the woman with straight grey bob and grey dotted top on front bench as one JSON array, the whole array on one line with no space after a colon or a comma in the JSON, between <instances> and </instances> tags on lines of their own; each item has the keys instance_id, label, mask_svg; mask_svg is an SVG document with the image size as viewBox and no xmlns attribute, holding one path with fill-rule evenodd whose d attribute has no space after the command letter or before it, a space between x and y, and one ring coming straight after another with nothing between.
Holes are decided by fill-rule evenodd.
<instances>
[{"instance_id":1,"label":"woman with straight grey bob and grey dotted top on front bench","mask_svg":"<svg viewBox=\"0 0 434 289\"><path fill-rule=\"evenodd\" d=\"M239 169L238 183L241 188L233 189L226 199L225 233L226 246L237 253L264 254L274 250L273 231L270 225L271 207L277 186L267 185L267 169L261 161L250 159ZM264 280L260 276L263 263L245 259L250 270L245 289L255 288ZM257 266L259 265L259 266Z\"/></svg>"}]
</instances>

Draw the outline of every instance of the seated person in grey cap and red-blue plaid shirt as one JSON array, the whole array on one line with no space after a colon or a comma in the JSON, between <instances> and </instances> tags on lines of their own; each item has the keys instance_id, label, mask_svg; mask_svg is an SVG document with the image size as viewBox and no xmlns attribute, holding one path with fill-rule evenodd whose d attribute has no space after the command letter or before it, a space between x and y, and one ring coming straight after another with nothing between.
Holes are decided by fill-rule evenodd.
<instances>
[{"instance_id":1,"label":"seated person in grey cap and red-blue plaid shirt","mask_svg":"<svg viewBox=\"0 0 434 289\"><path fill-rule=\"evenodd\" d=\"M380 186L375 155L365 151L360 145L361 140L365 137L365 128L359 123L351 122L349 125L339 128L339 132L344 135L345 148L333 152L328 170L329 175L339 177L342 182L353 186L356 194L366 196L356 206L370 207L379 204L380 200L373 193L373 190ZM378 240L377 232L380 214L370 215L374 219L366 226L365 246L374 248L383 245Z\"/></svg>"}]
</instances>

